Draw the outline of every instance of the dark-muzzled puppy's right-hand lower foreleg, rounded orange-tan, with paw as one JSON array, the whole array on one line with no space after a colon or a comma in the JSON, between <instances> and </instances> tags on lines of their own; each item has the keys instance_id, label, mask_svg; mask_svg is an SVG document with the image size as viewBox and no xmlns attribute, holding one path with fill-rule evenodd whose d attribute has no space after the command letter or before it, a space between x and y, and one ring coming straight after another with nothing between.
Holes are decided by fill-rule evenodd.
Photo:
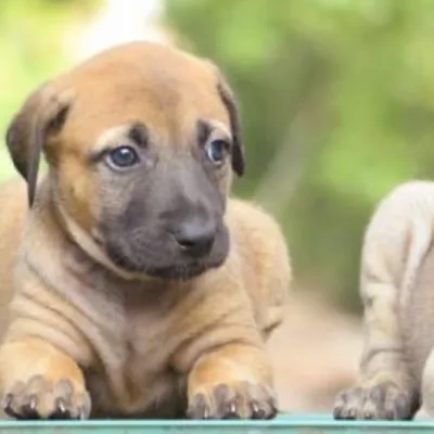
<instances>
[{"instance_id":1,"label":"dark-muzzled puppy's right-hand lower foreleg, rounded orange-tan, with paw","mask_svg":"<svg viewBox=\"0 0 434 434\"><path fill-rule=\"evenodd\" d=\"M269 419L276 416L265 349L227 344L203 354L188 376L188 416L194 419Z\"/></svg>"}]
</instances>

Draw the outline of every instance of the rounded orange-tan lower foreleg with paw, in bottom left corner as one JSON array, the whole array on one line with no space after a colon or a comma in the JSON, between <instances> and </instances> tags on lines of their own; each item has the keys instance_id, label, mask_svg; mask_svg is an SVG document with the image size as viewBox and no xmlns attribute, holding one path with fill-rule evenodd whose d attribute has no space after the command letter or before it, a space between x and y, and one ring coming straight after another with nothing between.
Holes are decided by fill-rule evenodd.
<instances>
[{"instance_id":1,"label":"rounded orange-tan lower foreleg with paw, in bottom left corner","mask_svg":"<svg viewBox=\"0 0 434 434\"><path fill-rule=\"evenodd\" d=\"M84 419L90 398L84 375L66 354L41 339L5 342L0 349L3 411L16 419Z\"/></svg>"}]
</instances>

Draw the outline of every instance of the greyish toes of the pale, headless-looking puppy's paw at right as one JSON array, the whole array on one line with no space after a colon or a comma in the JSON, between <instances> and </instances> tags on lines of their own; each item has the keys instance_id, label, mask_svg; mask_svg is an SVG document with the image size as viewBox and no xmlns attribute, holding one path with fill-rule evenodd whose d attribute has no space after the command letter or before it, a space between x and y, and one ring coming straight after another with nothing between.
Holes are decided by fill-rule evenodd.
<instances>
[{"instance_id":1,"label":"greyish toes of the pale, headless-looking puppy's paw at right","mask_svg":"<svg viewBox=\"0 0 434 434\"><path fill-rule=\"evenodd\" d=\"M409 420L418 408L418 397L392 381L370 387L354 387L337 395L335 419Z\"/></svg>"}]
</instances>

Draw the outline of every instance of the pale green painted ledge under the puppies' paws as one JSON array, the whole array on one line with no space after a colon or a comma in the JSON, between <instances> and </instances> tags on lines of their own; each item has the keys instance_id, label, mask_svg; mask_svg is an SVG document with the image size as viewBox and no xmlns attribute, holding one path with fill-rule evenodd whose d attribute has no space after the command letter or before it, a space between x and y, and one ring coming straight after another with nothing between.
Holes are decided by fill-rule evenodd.
<instances>
[{"instance_id":1,"label":"pale green painted ledge under the puppies' paws","mask_svg":"<svg viewBox=\"0 0 434 434\"><path fill-rule=\"evenodd\" d=\"M260 433L403 433L433 432L434 420L409 422L334 421L328 414L282 414L272 421L2 421L0 434L260 434Z\"/></svg>"}]
</instances>

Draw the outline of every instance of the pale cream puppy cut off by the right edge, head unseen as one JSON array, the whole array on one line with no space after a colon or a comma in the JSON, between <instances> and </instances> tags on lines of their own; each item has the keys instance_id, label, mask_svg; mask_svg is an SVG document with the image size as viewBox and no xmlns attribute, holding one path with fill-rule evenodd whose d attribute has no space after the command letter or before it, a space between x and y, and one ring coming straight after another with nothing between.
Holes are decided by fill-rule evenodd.
<instances>
[{"instance_id":1,"label":"pale cream puppy cut off by the right edge, head unseen","mask_svg":"<svg viewBox=\"0 0 434 434\"><path fill-rule=\"evenodd\" d=\"M362 252L366 343L340 419L434 416L434 182L399 186L379 205Z\"/></svg>"}]
</instances>

